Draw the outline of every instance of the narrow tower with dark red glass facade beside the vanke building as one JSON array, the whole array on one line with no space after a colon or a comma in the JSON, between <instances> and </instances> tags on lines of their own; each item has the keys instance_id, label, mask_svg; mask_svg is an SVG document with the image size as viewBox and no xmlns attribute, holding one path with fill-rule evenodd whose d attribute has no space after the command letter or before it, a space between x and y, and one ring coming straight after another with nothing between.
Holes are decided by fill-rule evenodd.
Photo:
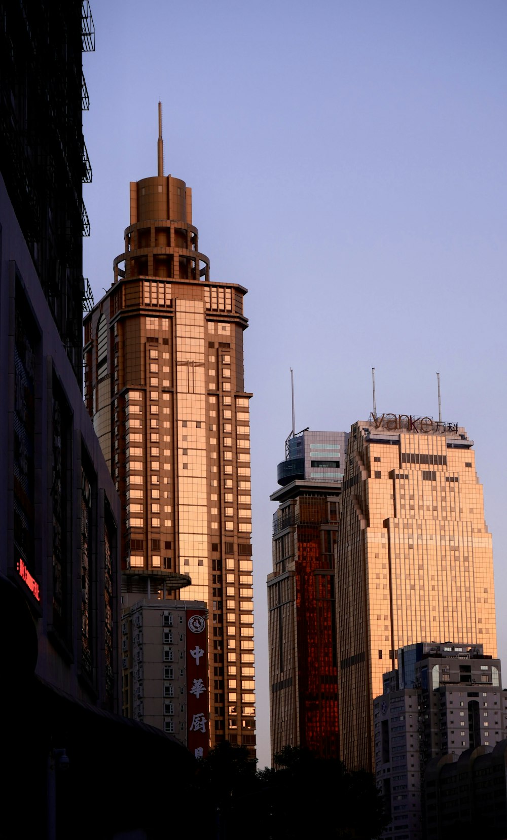
<instances>
[{"instance_id":1,"label":"narrow tower with dark red glass facade beside the vanke building","mask_svg":"<svg viewBox=\"0 0 507 840\"><path fill-rule=\"evenodd\" d=\"M272 758L285 746L339 753L334 552L347 438L291 435L278 466L268 576Z\"/></svg>"}]
</instances>

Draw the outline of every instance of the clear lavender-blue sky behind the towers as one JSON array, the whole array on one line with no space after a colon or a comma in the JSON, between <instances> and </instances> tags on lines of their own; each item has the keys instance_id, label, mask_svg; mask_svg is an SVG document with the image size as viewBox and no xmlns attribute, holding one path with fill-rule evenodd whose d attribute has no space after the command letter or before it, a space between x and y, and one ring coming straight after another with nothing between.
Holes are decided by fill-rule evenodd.
<instances>
[{"instance_id":1,"label":"clear lavender-blue sky behind the towers","mask_svg":"<svg viewBox=\"0 0 507 840\"><path fill-rule=\"evenodd\" d=\"M507 673L507 3L91 2L83 130L93 181L84 274L97 302L129 181L192 187L212 281L248 288L259 767L269 764L269 495L292 428L377 411L475 441ZM475 641L456 639L454 641Z\"/></svg>"}]
</instances>

